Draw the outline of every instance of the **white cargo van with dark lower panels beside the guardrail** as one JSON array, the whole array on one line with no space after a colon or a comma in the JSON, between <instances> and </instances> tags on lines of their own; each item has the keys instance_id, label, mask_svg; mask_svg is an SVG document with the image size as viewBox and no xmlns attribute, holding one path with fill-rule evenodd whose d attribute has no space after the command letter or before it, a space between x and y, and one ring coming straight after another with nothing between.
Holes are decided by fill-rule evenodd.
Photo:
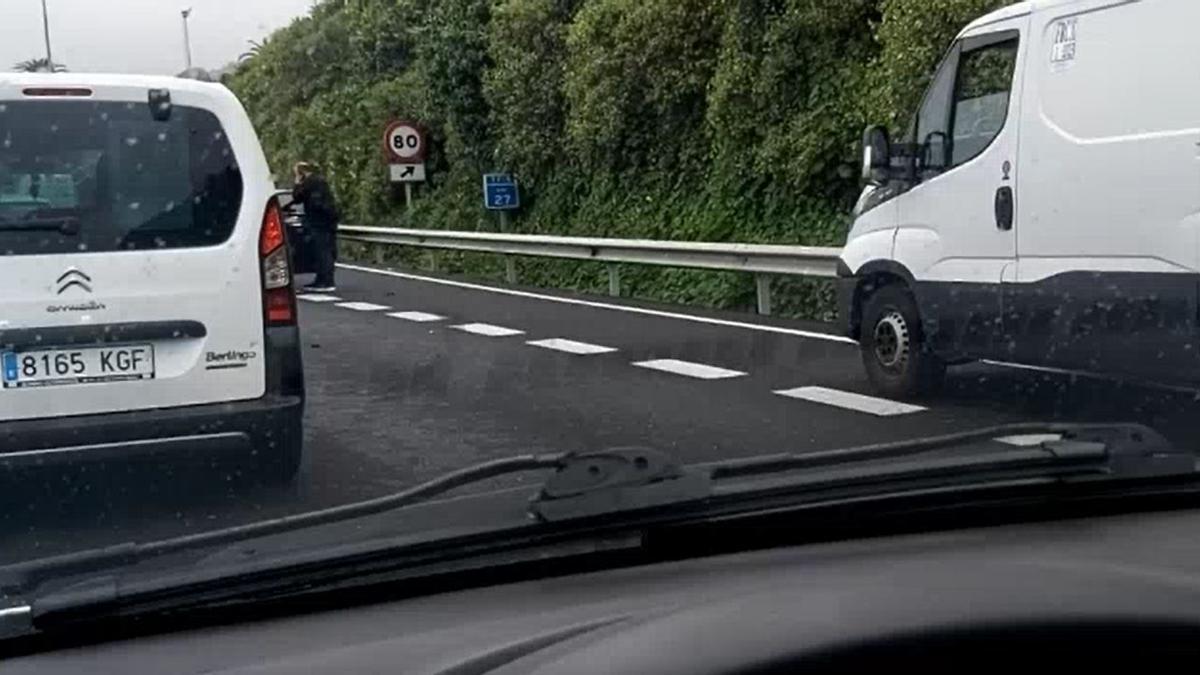
<instances>
[{"instance_id":1,"label":"white cargo van with dark lower panels beside the guardrail","mask_svg":"<svg viewBox=\"0 0 1200 675\"><path fill-rule=\"evenodd\" d=\"M1200 381L1198 25L1020 2L959 35L904 142L868 130L839 299L880 392L972 359Z\"/></svg>"}]
</instances>

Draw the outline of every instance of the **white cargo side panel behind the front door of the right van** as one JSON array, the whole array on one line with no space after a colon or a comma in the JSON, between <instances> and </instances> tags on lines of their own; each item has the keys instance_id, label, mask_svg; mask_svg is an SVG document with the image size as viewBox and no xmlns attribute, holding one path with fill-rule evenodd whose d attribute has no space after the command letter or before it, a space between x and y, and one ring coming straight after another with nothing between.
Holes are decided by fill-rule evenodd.
<instances>
[{"instance_id":1,"label":"white cargo side panel behind the front door of the right van","mask_svg":"<svg viewBox=\"0 0 1200 675\"><path fill-rule=\"evenodd\" d=\"M1033 16L1012 359L1200 376L1198 23L1194 0Z\"/></svg>"}]
</instances>

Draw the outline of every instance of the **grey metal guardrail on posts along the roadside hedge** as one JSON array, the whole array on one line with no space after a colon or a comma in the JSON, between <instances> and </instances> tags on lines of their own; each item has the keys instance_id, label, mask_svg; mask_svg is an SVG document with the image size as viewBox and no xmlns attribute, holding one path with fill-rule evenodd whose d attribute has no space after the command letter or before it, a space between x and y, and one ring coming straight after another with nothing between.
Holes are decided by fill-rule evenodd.
<instances>
[{"instance_id":1,"label":"grey metal guardrail on posts along the roadside hedge","mask_svg":"<svg viewBox=\"0 0 1200 675\"><path fill-rule=\"evenodd\" d=\"M505 277L509 283L517 281L512 256L602 262L608 264L610 295L620 295L619 264L745 271L755 275L758 313L762 315L770 313L772 276L833 277L841 253L841 249L827 246L550 237L355 225L340 226L338 237L368 244L502 255L505 257Z\"/></svg>"}]
</instances>

